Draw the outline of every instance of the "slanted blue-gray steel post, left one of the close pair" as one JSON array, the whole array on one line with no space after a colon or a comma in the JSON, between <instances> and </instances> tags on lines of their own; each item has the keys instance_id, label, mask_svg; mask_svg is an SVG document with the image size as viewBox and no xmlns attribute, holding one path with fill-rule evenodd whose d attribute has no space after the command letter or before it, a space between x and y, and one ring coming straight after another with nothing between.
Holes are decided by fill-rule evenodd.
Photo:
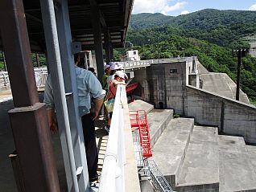
<instances>
[{"instance_id":1,"label":"slanted blue-gray steel post, left one of the close pair","mask_svg":"<svg viewBox=\"0 0 256 192\"><path fill-rule=\"evenodd\" d=\"M52 0L40 0L43 30L47 47L47 62L52 77L61 145L63 145L68 191L79 191L76 178L76 164L72 148L72 137L68 119L68 108L64 90L64 79L60 62L60 48L56 28L55 10ZM68 162L68 163L67 163Z\"/></svg>"}]
</instances>

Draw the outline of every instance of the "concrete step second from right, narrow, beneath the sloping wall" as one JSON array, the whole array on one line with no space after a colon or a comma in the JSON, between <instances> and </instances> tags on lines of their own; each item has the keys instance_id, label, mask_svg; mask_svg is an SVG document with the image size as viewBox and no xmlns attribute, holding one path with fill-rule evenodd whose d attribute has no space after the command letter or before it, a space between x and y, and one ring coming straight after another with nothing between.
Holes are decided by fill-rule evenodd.
<instances>
[{"instance_id":1,"label":"concrete step second from right, narrow, beneath the sloping wall","mask_svg":"<svg viewBox=\"0 0 256 192\"><path fill-rule=\"evenodd\" d=\"M256 191L256 174L242 137L219 136L220 191Z\"/></svg>"}]
</instances>

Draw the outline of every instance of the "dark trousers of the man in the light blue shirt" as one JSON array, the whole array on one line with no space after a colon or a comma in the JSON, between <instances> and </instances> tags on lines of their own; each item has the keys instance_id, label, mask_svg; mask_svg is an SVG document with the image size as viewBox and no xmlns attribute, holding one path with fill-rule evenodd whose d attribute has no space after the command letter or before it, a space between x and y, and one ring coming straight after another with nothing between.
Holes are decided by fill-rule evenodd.
<instances>
[{"instance_id":1,"label":"dark trousers of the man in the light blue shirt","mask_svg":"<svg viewBox=\"0 0 256 192\"><path fill-rule=\"evenodd\" d=\"M93 114L85 114L81 117L81 121L85 138L85 152L89 178L92 179L97 177L98 160Z\"/></svg>"}]
</instances>

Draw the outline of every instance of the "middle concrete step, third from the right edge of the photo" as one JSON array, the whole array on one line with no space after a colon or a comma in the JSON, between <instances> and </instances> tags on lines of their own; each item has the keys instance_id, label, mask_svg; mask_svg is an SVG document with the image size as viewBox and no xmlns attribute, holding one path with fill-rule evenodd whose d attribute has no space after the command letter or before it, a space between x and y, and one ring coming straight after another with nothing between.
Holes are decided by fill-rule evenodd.
<instances>
[{"instance_id":1,"label":"middle concrete step, third from the right edge of the photo","mask_svg":"<svg viewBox=\"0 0 256 192\"><path fill-rule=\"evenodd\" d=\"M217 127L195 126L188 145L177 191L219 191Z\"/></svg>"}]
</instances>

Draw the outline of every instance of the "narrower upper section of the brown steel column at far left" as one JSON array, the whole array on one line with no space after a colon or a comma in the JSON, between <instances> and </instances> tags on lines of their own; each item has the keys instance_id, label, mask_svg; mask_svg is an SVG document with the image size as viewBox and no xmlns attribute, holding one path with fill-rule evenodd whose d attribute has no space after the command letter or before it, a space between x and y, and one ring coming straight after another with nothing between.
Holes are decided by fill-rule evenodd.
<instances>
[{"instance_id":1,"label":"narrower upper section of the brown steel column at far left","mask_svg":"<svg viewBox=\"0 0 256 192\"><path fill-rule=\"evenodd\" d=\"M14 105L15 107L33 105L39 102L39 98L36 92L33 64L31 58L27 57L27 55L30 56L31 50L23 6L20 5L22 1L2 0L0 2L2 43L6 51Z\"/></svg>"}]
</instances>

